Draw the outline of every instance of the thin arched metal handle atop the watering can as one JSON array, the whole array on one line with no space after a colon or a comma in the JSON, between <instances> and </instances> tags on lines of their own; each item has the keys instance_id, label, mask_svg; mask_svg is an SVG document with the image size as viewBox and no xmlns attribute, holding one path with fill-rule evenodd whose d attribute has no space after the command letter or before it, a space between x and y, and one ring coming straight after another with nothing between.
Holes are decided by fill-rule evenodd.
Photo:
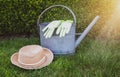
<instances>
[{"instance_id":1,"label":"thin arched metal handle atop the watering can","mask_svg":"<svg viewBox=\"0 0 120 77\"><path fill-rule=\"evenodd\" d=\"M76 16L75 16L75 14L73 13L73 11L72 11L70 8L68 8L67 6L64 6L64 5L52 5L52 6L48 7L48 8L46 8L45 10L43 10L43 12L39 15L38 20L37 20L37 26L39 26L40 17L41 17L47 10L49 10L49 9L51 9L51 8L53 8L53 7L63 7L63 8L66 8L66 9L72 14L72 16L73 16L73 18L74 18L74 24L76 25Z\"/></svg>"}]
</instances>

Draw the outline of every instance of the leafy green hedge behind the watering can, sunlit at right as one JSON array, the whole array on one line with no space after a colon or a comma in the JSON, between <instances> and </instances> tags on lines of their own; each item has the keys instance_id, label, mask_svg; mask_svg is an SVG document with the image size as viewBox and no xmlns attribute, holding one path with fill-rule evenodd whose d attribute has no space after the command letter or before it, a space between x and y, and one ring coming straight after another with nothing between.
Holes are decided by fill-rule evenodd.
<instances>
[{"instance_id":1,"label":"leafy green hedge behind the watering can, sunlit at right","mask_svg":"<svg viewBox=\"0 0 120 77\"><path fill-rule=\"evenodd\" d=\"M62 4L74 11L77 32L82 32L96 15L101 17L89 34L94 37L113 13L114 3L115 0L0 0L0 35L36 35L39 14L53 4ZM68 18L72 16L67 10L55 8L46 12L41 22Z\"/></svg>"}]
</instances>

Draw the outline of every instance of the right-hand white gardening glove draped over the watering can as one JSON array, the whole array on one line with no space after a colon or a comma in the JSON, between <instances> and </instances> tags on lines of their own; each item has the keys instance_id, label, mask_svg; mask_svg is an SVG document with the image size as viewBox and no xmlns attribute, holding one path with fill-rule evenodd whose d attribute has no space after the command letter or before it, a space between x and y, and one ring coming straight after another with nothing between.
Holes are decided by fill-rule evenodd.
<instances>
[{"instance_id":1,"label":"right-hand white gardening glove draped over the watering can","mask_svg":"<svg viewBox=\"0 0 120 77\"><path fill-rule=\"evenodd\" d=\"M64 37L65 34L69 33L72 23L73 23L72 20L62 21L62 23L60 24L56 31L56 34L59 34L60 37Z\"/></svg>"}]
</instances>

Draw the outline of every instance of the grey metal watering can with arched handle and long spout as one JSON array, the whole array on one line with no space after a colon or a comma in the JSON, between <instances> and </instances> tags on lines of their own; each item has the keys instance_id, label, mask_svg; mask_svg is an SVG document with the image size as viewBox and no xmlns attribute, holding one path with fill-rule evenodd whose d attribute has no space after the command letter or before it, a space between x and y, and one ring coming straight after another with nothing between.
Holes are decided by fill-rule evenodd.
<instances>
[{"instance_id":1,"label":"grey metal watering can with arched handle and long spout","mask_svg":"<svg viewBox=\"0 0 120 77\"><path fill-rule=\"evenodd\" d=\"M58 35L53 35L51 38L46 39L44 37L44 32L42 29L45 28L49 24L49 22L40 23L40 17L49 9L54 7L63 7L67 9L73 16L74 22L72 24L72 27L67 35L60 38ZM93 21L88 25L88 27L81 33L81 35L76 40L76 16L73 13L73 11L64 5L52 5L48 8L46 8L38 17L37 20L37 26L38 31L40 34L40 43L41 46L49 48L53 54L74 54L76 47L81 43L81 41L85 38L85 36L88 34L88 32L92 29L94 24L99 19L99 16L96 16Z\"/></svg>"}]
</instances>

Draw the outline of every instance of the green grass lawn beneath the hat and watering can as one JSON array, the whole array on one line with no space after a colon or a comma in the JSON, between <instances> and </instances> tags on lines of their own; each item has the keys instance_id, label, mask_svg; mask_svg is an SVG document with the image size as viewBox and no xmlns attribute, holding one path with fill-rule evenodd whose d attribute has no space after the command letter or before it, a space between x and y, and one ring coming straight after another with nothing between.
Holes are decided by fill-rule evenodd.
<instances>
[{"instance_id":1,"label":"green grass lawn beneath the hat and watering can","mask_svg":"<svg viewBox=\"0 0 120 77\"><path fill-rule=\"evenodd\" d=\"M38 38L0 40L0 77L120 77L120 42L90 38L74 55L55 56L47 67L24 70L11 64L10 57L22 46L39 44Z\"/></svg>"}]
</instances>

